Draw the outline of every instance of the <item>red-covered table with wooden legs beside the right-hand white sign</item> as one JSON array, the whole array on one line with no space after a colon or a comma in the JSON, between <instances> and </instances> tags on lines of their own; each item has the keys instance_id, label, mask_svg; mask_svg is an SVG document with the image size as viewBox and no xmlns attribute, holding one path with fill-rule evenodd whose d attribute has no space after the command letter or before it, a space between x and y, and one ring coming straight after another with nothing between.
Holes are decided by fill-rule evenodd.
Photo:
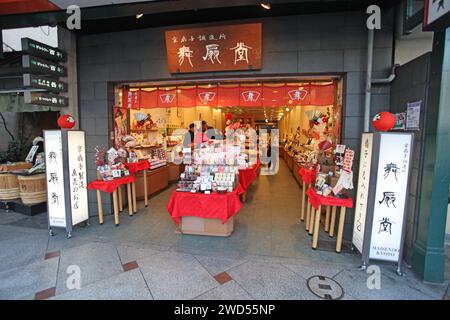
<instances>
[{"instance_id":1,"label":"red-covered table with wooden legs beside the right-hand white sign","mask_svg":"<svg viewBox=\"0 0 450 320\"><path fill-rule=\"evenodd\" d=\"M336 198L336 197L324 197L322 195L319 195L316 193L316 191L313 188L309 188L306 191L306 194L308 195L309 203L311 203L313 209L311 212L311 221L313 222L311 225L314 228L313 233L313 241L312 241L312 248L317 248L317 241L319 239L319 225L320 225L320 216L322 211L322 206L327 207L327 216L325 219L325 229L327 229L327 225L329 222L329 208L332 207L332 214L331 214L331 222L330 222L330 237L333 236L334 233L334 225L335 225L335 219L336 219L336 208L340 207L340 216L339 216L339 227L338 227L338 234L337 234L337 240L336 240L336 252L341 252L342 247L342 237L344 234L344 222L345 222L345 212L347 208L353 208L353 199L352 198ZM310 226L310 228L312 228Z\"/></svg>"}]
</instances>

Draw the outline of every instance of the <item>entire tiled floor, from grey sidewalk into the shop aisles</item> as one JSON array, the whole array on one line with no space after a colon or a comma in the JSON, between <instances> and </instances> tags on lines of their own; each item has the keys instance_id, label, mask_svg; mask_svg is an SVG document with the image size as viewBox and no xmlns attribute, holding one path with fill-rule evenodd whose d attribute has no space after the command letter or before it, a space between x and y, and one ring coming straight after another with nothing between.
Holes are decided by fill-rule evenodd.
<instances>
[{"instance_id":1,"label":"entire tiled floor, from grey sidewalk into the shop aisles","mask_svg":"<svg viewBox=\"0 0 450 320\"><path fill-rule=\"evenodd\" d=\"M49 237L45 215L0 212L0 299L318 299L306 283L331 277L343 299L442 299L448 282L381 266L381 288L367 287L355 254L313 251L299 223L299 187L284 162L250 187L229 238L180 235L165 211L172 189L120 227L111 216Z\"/></svg>"}]
</instances>

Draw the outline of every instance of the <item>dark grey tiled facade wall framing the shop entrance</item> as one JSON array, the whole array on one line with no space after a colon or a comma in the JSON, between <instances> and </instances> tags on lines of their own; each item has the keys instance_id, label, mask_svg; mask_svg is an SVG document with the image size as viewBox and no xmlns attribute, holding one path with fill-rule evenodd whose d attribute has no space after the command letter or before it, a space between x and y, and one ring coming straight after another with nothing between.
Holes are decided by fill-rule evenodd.
<instances>
[{"instance_id":1,"label":"dark grey tiled facade wall framing the shop entrance","mask_svg":"<svg viewBox=\"0 0 450 320\"><path fill-rule=\"evenodd\" d=\"M236 78L258 75L345 74L346 105L342 143L359 158L363 131L364 92L367 59L367 14L339 12L264 19L235 20L233 23L263 23L262 63L259 71L227 72ZM216 23L220 25L220 22ZM195 25L199 26L199 25ZM177 26L177 28L194 25ZM202 77L211 79L224 73L170 75L167 69L164 32L151 28L125 32L84 35L78 42L78 76L81 128L87 133L87 148L109 144L107 82L136 82ZM382 28L375 34L374 77L384 78L393 62L394 14L382 12ZM374 88L371 114L386 111L390 87ZM203 114L202 114L203 115ZM187 119L186 119L187 120ZM186 123L188 121L185 121ZM88 154L88 179L96 177L93 153ZM355 166L355 176L357 176ZM282 190L280 190L282 192ZM355 190L352 191L352 196ZM97 214L95 193L89 193L91 215ZM106 213L111 213L109 207ZM351 239L353 211L346 217L345 238Z\"/></svg>"}]
</instances>

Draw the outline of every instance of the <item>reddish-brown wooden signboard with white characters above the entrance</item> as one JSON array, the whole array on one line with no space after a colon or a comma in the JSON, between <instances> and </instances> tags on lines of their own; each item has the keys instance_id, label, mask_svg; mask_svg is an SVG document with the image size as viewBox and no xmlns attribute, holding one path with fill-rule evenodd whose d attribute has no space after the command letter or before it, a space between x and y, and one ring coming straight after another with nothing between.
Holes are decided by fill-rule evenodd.
<instances>
[{"instance_id":1,"label":"reddish-brown wooden signboard with white characters above the entrance","mask_svg":"<svg viewBox=\"0 0 450 320\"><path fill-rule=\"evenodd\" d=\"M170 73L261 69L261 23L166 31Z\"/></svg>"}]
</instances>

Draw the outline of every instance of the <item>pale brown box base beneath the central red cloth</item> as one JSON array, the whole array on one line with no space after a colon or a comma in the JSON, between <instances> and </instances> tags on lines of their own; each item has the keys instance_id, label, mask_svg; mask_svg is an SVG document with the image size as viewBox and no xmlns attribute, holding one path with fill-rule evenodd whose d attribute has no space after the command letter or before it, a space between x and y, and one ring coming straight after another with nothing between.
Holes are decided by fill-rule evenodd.
<instances>
[{"instance_id":1,"label":"pale brown box base beneath the central red cloth","mask_svg":"<svg viewBox=\"0 0 450 320\"><path fill-rule=\"evenodd\" d=\"M234 231L234 216L222 224L220 219L182 217L181 233L203 236L229 237Z\"/></svg>"}]
</instances>

